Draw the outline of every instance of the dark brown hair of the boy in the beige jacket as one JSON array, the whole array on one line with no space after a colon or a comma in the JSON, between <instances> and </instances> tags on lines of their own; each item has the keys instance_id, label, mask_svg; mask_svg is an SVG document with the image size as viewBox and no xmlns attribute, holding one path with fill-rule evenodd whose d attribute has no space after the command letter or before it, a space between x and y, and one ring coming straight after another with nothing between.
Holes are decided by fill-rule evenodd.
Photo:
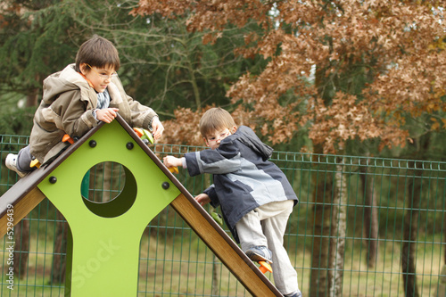
<instances>
[{"instance_id":1,"label":"dark brown hair of the boy in the beige jacket","mask_svg":"<svg viewBox=\"0 0 446 297\"><path fill-rule=\"evenodd\" d=\"M116 47L109 40L94 35L80 45L78 54L76 54L76 71L80 72L82 63L98 68L112 67L117 71L120 69L120 56Z\"/></svg>"}]
</instances>

